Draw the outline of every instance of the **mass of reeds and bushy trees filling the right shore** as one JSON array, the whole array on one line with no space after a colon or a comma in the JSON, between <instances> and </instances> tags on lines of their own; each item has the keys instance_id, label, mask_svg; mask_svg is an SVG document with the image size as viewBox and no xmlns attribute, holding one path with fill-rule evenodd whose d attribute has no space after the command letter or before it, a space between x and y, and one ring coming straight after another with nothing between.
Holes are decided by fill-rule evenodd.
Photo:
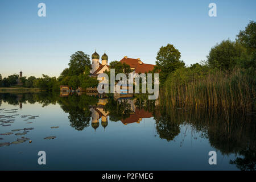
<instances>
[{"instance_id":1,"label":"mass of reeds and bushy trees filling the right shore","mask_svg":"<svg viewBox=\"0 0 256 182\"><path fill-rule=\"evenodd\" d=\"M216 44L207 57L200 64L170 71L166 81L160 82L160 101L179 107L254 110L255 22L240 31L236 42Z\"/></svg>"}]
</instances>

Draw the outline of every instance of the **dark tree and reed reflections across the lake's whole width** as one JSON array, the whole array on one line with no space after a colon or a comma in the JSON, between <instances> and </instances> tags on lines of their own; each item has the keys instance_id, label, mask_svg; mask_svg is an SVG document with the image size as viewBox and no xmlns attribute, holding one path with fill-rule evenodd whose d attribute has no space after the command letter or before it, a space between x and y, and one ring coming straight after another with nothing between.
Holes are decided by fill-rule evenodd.
<instances>
[{"instance_id":1,"label":"dark tree and reed reflections across the lake's whole width","mask_svg":"<svg viewBox=\"0 0 256 182\"><path fill-rule=\"evenodd\" d=\"M20 96L21 95L21 96ZM69 113L70 125L76 130L84 130L89 126L91 113L89 107L97 104L96 97L86 95L60 97L59 93L1 93L0 103L7 102L18 105L19 102L34 104L39 102L43 106L56 104ZM238 154L237 159L230 163L241 170L255 170L255 122L253 115L241 115L237 113L211 112L209 110L185 110L170 109L163 106L155 106L154 101L137 100L138 109L150 111L155 118L156 132L159 137L167 141L174 140L180 133L180 125L187 124L193 131L202 133L201 137L208 138L209 143L222 154ZM111 121L120 121L130 117L133 113L127 100L118 102L110 98L104 106L109 112ZM92 127L98 127L95 123ZM101 123L104 127L107 122Z\"/></svg>"}]
</instances>

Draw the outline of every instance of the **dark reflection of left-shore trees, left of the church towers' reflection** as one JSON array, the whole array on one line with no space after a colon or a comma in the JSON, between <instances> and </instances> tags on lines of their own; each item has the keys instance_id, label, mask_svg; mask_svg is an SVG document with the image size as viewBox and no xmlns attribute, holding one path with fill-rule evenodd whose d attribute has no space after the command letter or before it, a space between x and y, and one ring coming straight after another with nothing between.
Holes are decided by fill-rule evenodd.
<instances>
[{"instance_id":1,"label":"dark reflection of left-shore trees, left of the church towers' reflection","mask_svg":"<svg viewBox=\"0 0 256 182\"><path fill-rule=\"evenodd\" d=\"M56 104L58 102L61 108L69 113L69 121L71 126L76 130L83 130L85 127L89 126L90 123L90 111L89 106L97 104L97 98L89 97L86 95L82 96L69 96L60 97L59 93L49 93L49 92L39 92L39 93L1 93L0 101L7 102L10 105L18 105L21 103L34 104L38 102L42 106L47 106L49 104Z\"/></svg>"}]
</instances>

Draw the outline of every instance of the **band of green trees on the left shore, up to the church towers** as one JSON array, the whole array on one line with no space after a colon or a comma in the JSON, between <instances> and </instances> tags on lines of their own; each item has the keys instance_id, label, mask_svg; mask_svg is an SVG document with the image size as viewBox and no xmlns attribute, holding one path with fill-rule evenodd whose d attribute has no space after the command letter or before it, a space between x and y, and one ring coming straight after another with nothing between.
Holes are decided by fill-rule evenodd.
<instances>
[{"instance_id":1,"label":"band of green trees on the left shore, up to the church towers","mask_svg":"<svg viewBox=\"0 0 256 182\"><path fill-rule=\"evenodd\" d=\"M39 88L48 92L60 90L60 85L68 85L72 89L95 87L98 85L98 80L95 77L89 76L90 71L90 57L82 51L77 51L71 55L69 61L69 68L65 68L58 78L43 75L43 77L36 78L34 76L19 78L22 86L25 88ZM0 86L17 86L18 75L10 75L3 78L0 75Z\"/></svg>"}]
</instances>

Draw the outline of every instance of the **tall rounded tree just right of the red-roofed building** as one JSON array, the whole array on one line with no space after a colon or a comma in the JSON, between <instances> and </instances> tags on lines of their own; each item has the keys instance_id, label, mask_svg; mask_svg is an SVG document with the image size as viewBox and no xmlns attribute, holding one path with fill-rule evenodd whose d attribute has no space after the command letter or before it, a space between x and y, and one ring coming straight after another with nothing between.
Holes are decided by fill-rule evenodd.
<instances>
[{"instance_id":1,"label":"tall rounded tree just right of the red-roofed building","mask_svg":"<svg viewBox=\"0 0 256 182\"><path fill-rule=\"evenodd\" d=\"M180 57L180 51L172 44L160 47L156 56L155 71L160 71L159 78L161 83L166 80L169 73L185 66L185 63L180 60Z\"/></svg>"}]
</instances>

